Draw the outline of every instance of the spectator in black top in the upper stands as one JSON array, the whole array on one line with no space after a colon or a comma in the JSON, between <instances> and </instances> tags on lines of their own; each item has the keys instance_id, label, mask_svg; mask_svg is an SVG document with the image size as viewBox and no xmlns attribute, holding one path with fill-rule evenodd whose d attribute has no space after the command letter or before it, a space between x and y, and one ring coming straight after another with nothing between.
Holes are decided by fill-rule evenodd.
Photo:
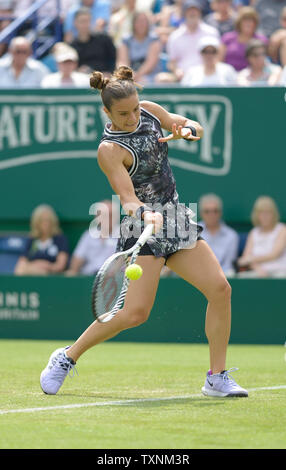
<instances>
[{"instance_id":1,"label":"spectator in black top in the upper stands","mask_svg":"<svg viewBox=\"0 0 286 470\"><path fill-rule=\"evenodd\" d=\"M94 69L112 73L115 68L116 49L110 36L104 32L91 32L91 14L81 8L75 14L77 38L71 46L79 57L79 71L90 73Z\"/></svg>"}]
</instances>

